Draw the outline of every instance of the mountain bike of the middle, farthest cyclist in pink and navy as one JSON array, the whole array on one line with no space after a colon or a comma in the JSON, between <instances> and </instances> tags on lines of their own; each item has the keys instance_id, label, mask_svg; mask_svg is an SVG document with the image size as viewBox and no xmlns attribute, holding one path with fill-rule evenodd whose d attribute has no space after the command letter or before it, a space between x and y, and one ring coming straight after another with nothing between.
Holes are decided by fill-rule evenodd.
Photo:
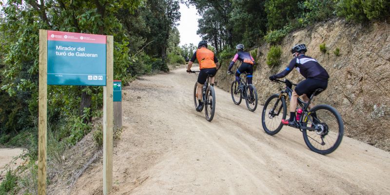
<instances>
[{"instance_id":1,"label":"mountain bike of the middle, farthest cyclist in pink and navy","mask_svg":"<svg viewBox=\"0 0 390 195\"><path fill-rule=\"evenodd\" d=\"M233 73L235 74L235 73ZM241 74L244 75L244 74ZM230 88L230 93L232 94L232 99L235 105L239 105L241 100L244 98L247 104L248 110L254 112L257 108L257 91L253 84L248 84L247 76L250 74L245 74L244 78L240 75L240 83L237 81L232 81L232 86Z\"/></svg>"}]
</instances>

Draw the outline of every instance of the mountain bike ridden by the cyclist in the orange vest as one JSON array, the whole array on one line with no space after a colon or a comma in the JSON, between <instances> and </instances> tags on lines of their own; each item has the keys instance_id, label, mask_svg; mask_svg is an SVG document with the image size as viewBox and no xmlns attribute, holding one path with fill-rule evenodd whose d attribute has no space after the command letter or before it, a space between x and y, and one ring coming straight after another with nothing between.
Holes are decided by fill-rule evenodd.
<instances>
[{"instance_id":1,"label":"mountain bike ridden by the cyclist in the orange vest","mask_svg":"<svg viewBox=\"0 0 390 195\"><path fill-rule=\"evenodd\" d=\"M200 71L191 71L191 73L198 73ZM202 112L203 108L204 114L206 116L206 120L212 121L215 113L215 90L214 86L209 86L209 78L214 77L213 75L208 75L206 81L204 82L203 89L202 89L202 109L200 112ZM194 87L194 103L195 103L195 109L198 107L198 99L196 98L196 90L197 90L197 83L195 82Z\"/></svg>"}]
</instances>

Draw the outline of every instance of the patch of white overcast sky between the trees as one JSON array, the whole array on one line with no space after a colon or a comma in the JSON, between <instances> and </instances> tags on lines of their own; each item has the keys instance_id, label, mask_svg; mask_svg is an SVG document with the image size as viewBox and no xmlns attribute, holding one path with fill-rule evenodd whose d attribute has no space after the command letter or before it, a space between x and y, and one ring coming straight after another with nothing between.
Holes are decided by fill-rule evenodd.
<instances>
[{"instance_id":1,"label":"patch of white overcast sky between the trees","mask_svg":"<svg viewBox=\"0 0 390 195\"><path fill-rule=\"evenodd\" d=\"M196 8L190 6L188 8L185 4L180 3L180 24L177 27L180 32L180 45L193 43L197 45L200 41L200 37L196 35L198 30L198 18L196 15Z\"/></svg>"}]
</instances>

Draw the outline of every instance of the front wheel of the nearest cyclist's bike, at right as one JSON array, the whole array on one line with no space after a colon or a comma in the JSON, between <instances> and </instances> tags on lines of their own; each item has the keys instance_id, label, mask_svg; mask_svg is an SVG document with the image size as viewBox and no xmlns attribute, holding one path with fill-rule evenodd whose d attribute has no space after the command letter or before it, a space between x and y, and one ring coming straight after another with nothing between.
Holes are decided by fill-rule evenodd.
<instances>
[{"instance_id":1,"label":"front wheel of the nearest cyclist's bike, at right","mask_svg":"<svg viewBox=\"0 0 390 195\"><path fill-rule=\"evenodd\" d=\"M286 119L286 100L279 94L273 94L264 104L261 114L261 124L268 135L277 134L283 127L282 119Z\"/></svg>"}]
</instances>

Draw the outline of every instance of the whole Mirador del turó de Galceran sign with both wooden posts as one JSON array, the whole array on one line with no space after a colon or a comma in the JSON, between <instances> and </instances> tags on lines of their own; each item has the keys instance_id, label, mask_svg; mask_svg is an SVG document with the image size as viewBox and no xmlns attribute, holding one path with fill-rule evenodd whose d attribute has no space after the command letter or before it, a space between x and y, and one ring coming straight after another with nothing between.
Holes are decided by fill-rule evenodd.
<instances>
[{"instance_id":1,"label":"whole Mirador del tur\u00f3 de Galceran sign with both wooden posts","mask_svg":"<svg viewBox=\"0 0 390 195\"><path fill-rule=\"evenodd\" d=\"M103 195L113 185L113 36L39 30L38 195L46 195L47 85L103 86Z\"/></svg>"}]
</instances>

